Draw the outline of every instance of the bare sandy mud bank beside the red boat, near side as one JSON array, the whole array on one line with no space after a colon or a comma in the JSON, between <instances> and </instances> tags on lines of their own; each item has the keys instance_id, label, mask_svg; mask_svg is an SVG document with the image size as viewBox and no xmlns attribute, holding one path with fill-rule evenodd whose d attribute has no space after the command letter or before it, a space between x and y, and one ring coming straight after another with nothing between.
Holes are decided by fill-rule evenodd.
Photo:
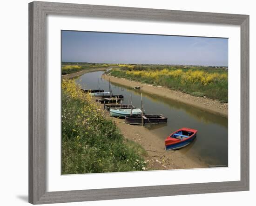
<instances>
[{"instance_id":1,"label":"bare sandy mud bank beside the red boat, near side","mask_svg":"<svg viewBox=\"0 0 256 206\"><path fill-rule=\"evenodd\" d=\"M103 104L101 104L103 110ZM201 159L190 159L185 154L189 146L182 150L165 151L164 140L151 133L144 126L128 125L124 119L110 117L105 111L107 118L111 119L119 127L123 136L140 144L148 153L144 157L148 161L147 170L189 169L208 167Z\"/></svg>"}]
</instances>

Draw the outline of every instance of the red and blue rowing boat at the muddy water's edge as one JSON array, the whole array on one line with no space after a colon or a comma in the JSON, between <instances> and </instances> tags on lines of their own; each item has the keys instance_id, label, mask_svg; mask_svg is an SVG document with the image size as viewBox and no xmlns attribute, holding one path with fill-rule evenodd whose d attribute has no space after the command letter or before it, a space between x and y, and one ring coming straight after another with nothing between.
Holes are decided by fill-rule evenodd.
<instances>
[{"instance_id":1,"label":"red and blue rowing boat at the muddy water's edge","mask_svg":"<svg viewBox=\"0 0 256 206\"><path fill-rule=\"evenodd\" d=\"M189 145L196 137L197 130L183 127L165 139L165 149L175 150Z\"/></svg>"}]
</instances>

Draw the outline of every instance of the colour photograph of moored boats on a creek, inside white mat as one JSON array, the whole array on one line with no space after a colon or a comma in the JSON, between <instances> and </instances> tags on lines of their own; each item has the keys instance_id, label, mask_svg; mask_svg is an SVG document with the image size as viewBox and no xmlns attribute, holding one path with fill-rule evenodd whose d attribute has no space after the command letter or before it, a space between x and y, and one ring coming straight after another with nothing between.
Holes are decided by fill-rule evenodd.
<instances>
[{"instance_id":1,"label":"colour photograph of moored boats on a creek, inside white mat","mask_svg":"<svg viewBox=\"0 0 256 206\"><path fill-rule=\"evenodd\" d=\"M229 166L229 39L61 30L61 174Z\"/></svg>"}]
</instances>

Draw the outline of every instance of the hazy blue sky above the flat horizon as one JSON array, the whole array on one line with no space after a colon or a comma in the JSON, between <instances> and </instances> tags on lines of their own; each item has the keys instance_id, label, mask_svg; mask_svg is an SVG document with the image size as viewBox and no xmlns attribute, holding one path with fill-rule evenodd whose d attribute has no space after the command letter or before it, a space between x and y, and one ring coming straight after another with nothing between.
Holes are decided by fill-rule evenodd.
<instances>
[{"instance_id":1,"label":"hazy blue sky above the flat horizon","mask_svg":"<svg viewBox=\"0 0 256 206\"><path fill-rule=\"evenodd\" d=\"M73 62L228 66L228 39L62 31L61 54Z\"/></svg>"}]
</instances>

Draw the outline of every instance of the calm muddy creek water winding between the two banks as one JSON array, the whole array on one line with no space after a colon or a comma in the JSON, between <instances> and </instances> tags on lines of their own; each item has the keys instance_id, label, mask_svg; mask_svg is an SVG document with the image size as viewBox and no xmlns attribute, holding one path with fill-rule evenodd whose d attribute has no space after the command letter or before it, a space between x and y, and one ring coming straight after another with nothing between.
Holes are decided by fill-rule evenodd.
<instances>
[{"instance_id":1,"label":"calm muddy creek water winding between the two banks","mask_svg":"<svg viewBox=\"0 0 256 206\"><path fill-rule=\"evenodd\" d=\"M98 89L109 91L109 82L101 79L103 72L86 73L76 79L83 89ZM123 94L123 104L132 104L141 108L140 90L111 83L113 94ZM130 97L131 96L131 97ZM151 133L164 141L175 130L189 127L198 130L197 138L189 146L177 152L189 158L200 159L209 166L228 166L228 119L197 109L175 100L169 100L156 95L142 93L143 108L148 114L163 114L168 123L148 126Z\"/></svg>"}]
</instances>

